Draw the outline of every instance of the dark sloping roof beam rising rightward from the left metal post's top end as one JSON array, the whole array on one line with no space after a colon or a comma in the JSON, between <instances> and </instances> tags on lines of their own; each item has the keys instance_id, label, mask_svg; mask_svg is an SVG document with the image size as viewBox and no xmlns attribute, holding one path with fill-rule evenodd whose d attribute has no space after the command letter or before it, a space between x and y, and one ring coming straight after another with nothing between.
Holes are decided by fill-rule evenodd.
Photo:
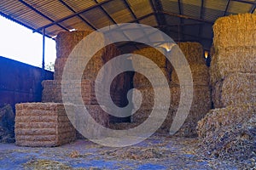
<instances>
[{"instance_id":1,"label":"dark sloping roof beam rising rightward from the left metal post's top end","mask_svg":"<svg viewBox=\"0 0 256 170\"><path fill-rule=\"evenodd\" d=\"M61 20L55 20L55 22L52 22L52 23L50 23L49 25L39 27L38 29L36 29L36 30L34 30L34 31L40 31L40 30L42 30L43 28L48 28L49 26L57 25L58 23L63 22L64 20L71 19L71 18L73 18L74 16L77 16L78 14L83 14L83 13L85 13L85 12L87 12L87 11L90 11L90 10L93 9L93 8L97 8L97 7L101 6L102 4L109 3L109 2L111 2L111 1L113 1L113 0L105 0L105 1L102 1L101 3L97 3L97 4L95 4L95 5L92 5L92 6L89 7L89 8L85 8L85 9L79 11L79 12L76 12L76 13L74 13L74 14L68 15L67 17L62 18Z\"/></svg>"}]
</instances>

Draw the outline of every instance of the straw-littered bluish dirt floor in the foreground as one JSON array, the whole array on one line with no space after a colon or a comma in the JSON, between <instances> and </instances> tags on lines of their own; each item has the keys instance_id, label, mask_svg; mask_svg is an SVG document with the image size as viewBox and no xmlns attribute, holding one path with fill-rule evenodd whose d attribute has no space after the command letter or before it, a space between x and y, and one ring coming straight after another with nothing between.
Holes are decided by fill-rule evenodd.
<instances>
[{"instance_id":1,"label":"straw-littered bluish dirt floor in the foreground","mask_svg":"<svg viewBox=\"0 0 256 170\"><path fill-rule=\"evenodd\" d=\"M199 154L197 139L154 135L130 147L77 140L53 148L0 144L0 169L243 169L240 162Z\"/></svg>"}]
</instances>

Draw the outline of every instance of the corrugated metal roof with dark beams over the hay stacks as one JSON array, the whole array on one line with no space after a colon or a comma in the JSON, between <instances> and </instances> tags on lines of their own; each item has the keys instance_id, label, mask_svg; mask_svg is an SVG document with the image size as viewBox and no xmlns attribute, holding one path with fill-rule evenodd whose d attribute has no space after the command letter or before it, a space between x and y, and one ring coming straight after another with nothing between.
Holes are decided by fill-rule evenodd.
<instances>
[{"instance_id":1,"label":"corrugated metal roof with dark beams over the hay stacks","mask_svg":"<svg viewBox=\"0 0 256 170\"><path fill-rule=\"evenodd\" d=\"M201 42L209 49L212 23L218 17L256 14L255 6L255 0L2 0L0 14L33 30L46 26L49 37L71 29L138 22L180 41Z\"/></svg>"}]
</instances>

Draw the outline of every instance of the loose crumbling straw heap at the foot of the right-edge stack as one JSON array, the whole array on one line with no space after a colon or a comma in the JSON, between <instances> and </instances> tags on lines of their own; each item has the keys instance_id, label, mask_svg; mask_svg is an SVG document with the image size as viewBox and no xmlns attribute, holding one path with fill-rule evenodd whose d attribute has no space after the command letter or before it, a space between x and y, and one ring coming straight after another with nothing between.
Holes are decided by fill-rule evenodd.
<instances>
[{"instance_id":1,"label":"loose crumbling straw heap at the foot of the right-edge stack","mask_svg":"<svg viewBox=\"0 0 256 170\"><path fill-rule=\"evenodd\" d=\"M255 156L256 104L215 109L198 123L201 145L210 156L245 160Z\"/></svg>"}]
</instances>

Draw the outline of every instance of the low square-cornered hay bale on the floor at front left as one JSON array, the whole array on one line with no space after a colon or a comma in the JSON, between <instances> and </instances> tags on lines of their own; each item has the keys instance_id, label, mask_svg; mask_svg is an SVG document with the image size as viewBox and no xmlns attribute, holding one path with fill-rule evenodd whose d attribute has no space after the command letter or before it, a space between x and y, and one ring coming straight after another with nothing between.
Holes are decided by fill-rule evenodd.
<instances>
[{"instance_id":1,"label":"low square-cornered hay bale on the floor at front left","mask_svg":"<svg viewBox=\"0 0 256 170\"><path fill-rule=\"evenodd\" d=\"M72 142L75 129L64 105L56 103L17 104L16 144L21 146L58 146ZM69 105L73 109L72 105Z\"/></svg>"}]
</instances>

